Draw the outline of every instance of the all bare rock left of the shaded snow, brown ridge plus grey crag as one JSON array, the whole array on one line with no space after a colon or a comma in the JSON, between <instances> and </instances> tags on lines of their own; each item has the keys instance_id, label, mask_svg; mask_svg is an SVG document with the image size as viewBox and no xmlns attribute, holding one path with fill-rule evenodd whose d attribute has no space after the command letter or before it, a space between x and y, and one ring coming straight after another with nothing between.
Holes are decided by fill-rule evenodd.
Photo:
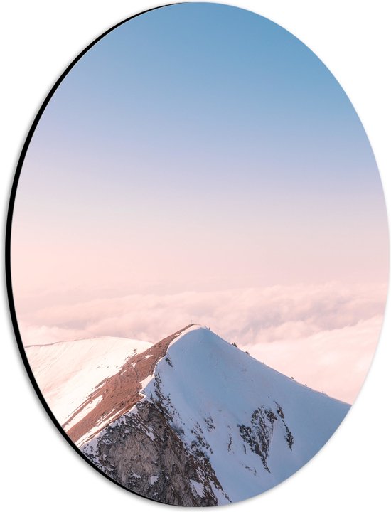
<instances>
[{"instance_id":1,"label":"all bare rock left of the shaded snow, brown ridge plus grey crag","mask_svg":"<svg viewBox=\"0 0 391 512\"><path fill-rule=\"evenodd\" d=\"M100 399L67 432L97 467L130 491L156 501L215 506L218 498L213 489L222 493L223 489L208 457L185 446L169 423L163 401L141 400L145 398L140 393L141 382L152 375L171 341L188 327L129 357L115 375L97 385L63 427L67 430L85 407ZM159 375L156 380L159 387Z\"/></svg>"}]
</instances>

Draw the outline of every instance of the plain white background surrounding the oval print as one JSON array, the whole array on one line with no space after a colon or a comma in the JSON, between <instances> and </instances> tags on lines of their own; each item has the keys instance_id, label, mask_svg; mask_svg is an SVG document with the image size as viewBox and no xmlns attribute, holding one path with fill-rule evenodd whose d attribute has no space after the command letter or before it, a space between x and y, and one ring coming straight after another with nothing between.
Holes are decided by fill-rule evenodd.
<instances>
[{"instance_id":1,"label":"plain white background surrounding the oval print","mask_svg":"<svg viewBox=\"0 0 391 512\"><path fill-rule=\"evenodd\" d=\"M235 0L282 25L314 50L353 102L373 146L391 204L390 16L384 0ZM80 50L151 1L23 0L1 7L1 174L6 208L23 141L50 87ZM28 257L28 255L26 255ZM388 308L390 309L390 308ZM51 424L24 370L5 282L1 327L1 505L6 510L170 508L138 498L97 474ZM234 510L390 510L391 314L370 375L326 448L284 484ZM346 378L349 378L346 368ZM8 505L8 506L7 506Z\"/></svg>"}]
</instances>

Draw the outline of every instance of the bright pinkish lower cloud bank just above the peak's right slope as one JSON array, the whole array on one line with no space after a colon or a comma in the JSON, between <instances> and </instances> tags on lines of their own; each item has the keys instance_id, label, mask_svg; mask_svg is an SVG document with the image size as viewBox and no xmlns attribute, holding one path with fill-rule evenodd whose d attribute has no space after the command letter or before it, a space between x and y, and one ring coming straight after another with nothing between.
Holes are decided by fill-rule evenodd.
<instances>
[{"instance_id":1,"label":"bright pinkish lower cloud bank just above the peak's right slope","mask_svg":"<svg viewBox=\"0 0 391 512\"><path fill-rule=\"evenodd\" d=\"M312 336L257 343L251 356L299 383L353 403L370 368L382 316Z\"/></svg>"}]
</instances>

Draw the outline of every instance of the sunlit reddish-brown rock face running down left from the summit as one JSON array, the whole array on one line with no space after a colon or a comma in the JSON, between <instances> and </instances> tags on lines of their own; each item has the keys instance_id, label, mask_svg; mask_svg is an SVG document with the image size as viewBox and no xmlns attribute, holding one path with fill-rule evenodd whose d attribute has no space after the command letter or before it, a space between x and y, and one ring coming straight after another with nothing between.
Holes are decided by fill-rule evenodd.
<instances>
[{"instance_id":1,"label":"sunlit reddish-brown rock face running down left from the summit","mask_svg":"<svg viewBox=\"0 0 391 512\"><path fill-rule=\"evenodd\" d=\"M82 439L84 444L98 432L102 431L109 423L116 420L118 417L124 415L129 411L139 400L142 395L139 393L141 390L141 381L152 375L156 362L159 361L166 354L168 345L183 331L191 327L189 324L181 331L171 334L167 338L162 339L151 348L148 348L143 353L130 356L124 366L118 370L115 375L103 380L91 395L75 410L69 420L63 425L63 429L67 432L72 441L77 444ZM75 425L68 429L67 425L87 407L92 400L97 400L100 397L100 402L85 415ZM99 428L96 430L97 425ZM94 428L93 434L89 434L90 430Z\"/></svg>"}]
</instances>

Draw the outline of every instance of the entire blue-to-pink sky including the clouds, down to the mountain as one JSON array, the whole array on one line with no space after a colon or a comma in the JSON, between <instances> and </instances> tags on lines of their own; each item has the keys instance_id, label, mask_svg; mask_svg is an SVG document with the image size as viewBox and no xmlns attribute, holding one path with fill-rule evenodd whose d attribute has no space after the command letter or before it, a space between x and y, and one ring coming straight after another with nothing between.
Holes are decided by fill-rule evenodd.
<instances>
[{"instance_id":1,"label":"entire blue-to-pink sky including the clouds, down to the mountain","mask_svg":"<svg viewBox=\"0 0 391 512\"><path fill-rule=\"evenodd\" d=\"M249 11L177 4L109 33L56 90L18 183L11 278L26 344L194 321L352 401L387 247L373 152L321 61Z\"/></svg>"}]
</instances>

